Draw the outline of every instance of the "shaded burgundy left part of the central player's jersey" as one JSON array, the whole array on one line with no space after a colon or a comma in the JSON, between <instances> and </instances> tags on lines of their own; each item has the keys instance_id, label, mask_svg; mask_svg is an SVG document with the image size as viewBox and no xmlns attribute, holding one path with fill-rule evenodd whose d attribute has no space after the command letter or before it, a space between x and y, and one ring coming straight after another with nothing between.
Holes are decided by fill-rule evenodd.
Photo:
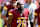
<instances>
[{"instance_id":1,"label":"shaded burgundy left part of the central player's jersey","mask_svg":"<svg viewBox=\"0 0 40 27\"><path fill-rule=\"evenodd\" d=\"M25 17L25 14L23 12L20 13L17 9L11 9L9 15L13 15L13 21L11 23L11 27L17 27L17 19L18 18L20 19L20 17Z\"/></svg>"}]
</instances>

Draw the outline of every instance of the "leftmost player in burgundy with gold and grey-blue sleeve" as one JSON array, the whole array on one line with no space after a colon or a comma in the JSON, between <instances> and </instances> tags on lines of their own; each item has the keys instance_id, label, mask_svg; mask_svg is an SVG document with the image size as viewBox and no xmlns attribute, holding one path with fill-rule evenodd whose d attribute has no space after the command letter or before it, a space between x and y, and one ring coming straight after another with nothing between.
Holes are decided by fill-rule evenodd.
<instances>
[{"instance_id":1,"label":"leftmost player in burgundy with gold and grey-blue sleeve","mask_svg":"<svg viewBox=\"0 0 40 27\"><path fill-rule=\"evenodd\" d=\"M1 13L1 18L5 21L5 25L7 25L8 20L8 12L10 9L14 9L15 6L11 2L6 2L6 5L3 7L3 11Z\"/></svg>"}]
</instances>

